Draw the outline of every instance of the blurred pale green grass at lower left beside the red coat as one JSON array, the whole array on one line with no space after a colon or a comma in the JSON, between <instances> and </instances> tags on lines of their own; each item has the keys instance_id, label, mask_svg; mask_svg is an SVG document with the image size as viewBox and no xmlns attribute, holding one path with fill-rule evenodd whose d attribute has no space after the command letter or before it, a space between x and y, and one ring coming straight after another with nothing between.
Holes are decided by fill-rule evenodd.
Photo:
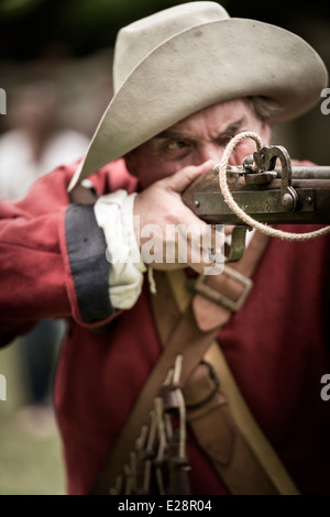
<instances>
[{"instance_id":1,"label":"blurred pale green grass at lower left beside the red coat","mask_svg":"<svg viewBox=\"0 0 330 517\"><path fill-rule=\"evenodd\" d=\"M0 350L7 400L0 400L0 495L64 495L65 472L58 431L37 436L20 419L26 385L15 346Z\"/></svg>"}]
</instances>

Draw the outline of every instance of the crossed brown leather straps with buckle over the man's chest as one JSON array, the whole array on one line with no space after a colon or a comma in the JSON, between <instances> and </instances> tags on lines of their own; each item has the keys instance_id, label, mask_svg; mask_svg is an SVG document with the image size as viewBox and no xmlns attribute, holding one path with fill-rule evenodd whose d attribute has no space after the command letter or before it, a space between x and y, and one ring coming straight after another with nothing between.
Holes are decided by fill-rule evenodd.
<instances>
[{"instance_id":1,"label":"crossed brown leather straps with buckle over the man's chest","mask_svg":"<svg viewBox=\"0 0 330 517\"><path fill-rule=\"evenodd\" d=\"M243 257L226 266L222 275L199 277L193 296L184 271L154 272L157 294L152 306L163 351L91 494L109 494L114 486L178 354L187 421L229 492L298 494L244 403L216 339L249 296L250 277L267 242L256 233Z\"/></svg>"}]
</instances>

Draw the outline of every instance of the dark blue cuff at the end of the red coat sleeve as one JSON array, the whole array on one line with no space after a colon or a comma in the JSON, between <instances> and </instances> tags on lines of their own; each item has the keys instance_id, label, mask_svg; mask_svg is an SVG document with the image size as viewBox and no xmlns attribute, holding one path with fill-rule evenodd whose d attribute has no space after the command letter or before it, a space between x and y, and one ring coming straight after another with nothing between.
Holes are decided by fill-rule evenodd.
<instances>
[{"instance_id":1,"label":"dark blue cuff at the end of the red coat sleeve","mask_svg":"<svg viewBox=\"0 0 330 517\"><path fill-rule=\"evenodd\" d=\"M65 232L78 306L86 323L114 312L109 297L109 263L103 231L97 224L94 205L69 205Z\"/></svg>"}]
</instances>

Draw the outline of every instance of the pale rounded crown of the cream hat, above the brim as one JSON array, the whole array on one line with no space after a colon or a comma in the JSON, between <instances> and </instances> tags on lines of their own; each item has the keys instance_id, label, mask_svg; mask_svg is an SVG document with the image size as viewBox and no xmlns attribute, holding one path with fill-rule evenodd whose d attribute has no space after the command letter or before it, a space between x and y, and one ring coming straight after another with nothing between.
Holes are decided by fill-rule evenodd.
<instances>
[{"instance_id":1,"label":"pale rounded crown of the cream hat, above the brim","mask_svg":"<svg viewBox=\"0 0 330 517\"><path fill-rule=\"evenodd\" d=\"M189 2L151 14L121 29L113 58L114 94L139 63L166 40L188 29L228 18L228 12L219 3Z\"/></svg>"}]
</instances>

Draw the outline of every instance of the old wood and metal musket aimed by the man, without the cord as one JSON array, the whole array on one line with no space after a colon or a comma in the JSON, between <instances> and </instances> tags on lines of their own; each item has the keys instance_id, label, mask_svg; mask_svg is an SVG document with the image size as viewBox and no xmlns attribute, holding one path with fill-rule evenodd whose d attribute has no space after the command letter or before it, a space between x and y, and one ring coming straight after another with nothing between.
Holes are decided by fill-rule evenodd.
<instances>
[{"instance_id":1,"label":"old wood and metal musket aimed by the man, without the cord","mask_svg":"<svg viewBox=\"0 0 330 517\"><path fill-rule=\"evenodd\" d=\"M280 165L277 165L278 162ZM242 165L227 167L229 190L237 204L266 224L330 224L330 167L294 166L280 145L262 147ZM183 193L184 202L204 221L234 224L229 261L242 256L249 228L229 208L219 185L219 167L198 177Z\"/></svg>"}]
</instances>

